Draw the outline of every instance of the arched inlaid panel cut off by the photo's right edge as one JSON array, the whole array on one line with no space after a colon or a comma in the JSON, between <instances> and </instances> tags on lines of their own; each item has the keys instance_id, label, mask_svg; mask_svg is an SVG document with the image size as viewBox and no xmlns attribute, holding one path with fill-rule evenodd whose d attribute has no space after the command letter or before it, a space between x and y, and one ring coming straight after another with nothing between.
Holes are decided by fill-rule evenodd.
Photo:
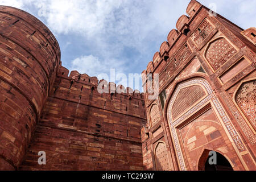
<instances>
[{"instance_id":1,"label":"arched inlaid panel cut off by the photo's right edge","mask_svg":"<svg viewBox=\"0 0 256 182\"><path fill-rule=\"evenodd\" d=\"M237 104L242 108L243 112L247 115L255 127L256 80L252 80L243 84L237 94L236 100Z\"/></svg>"}]
</instances>

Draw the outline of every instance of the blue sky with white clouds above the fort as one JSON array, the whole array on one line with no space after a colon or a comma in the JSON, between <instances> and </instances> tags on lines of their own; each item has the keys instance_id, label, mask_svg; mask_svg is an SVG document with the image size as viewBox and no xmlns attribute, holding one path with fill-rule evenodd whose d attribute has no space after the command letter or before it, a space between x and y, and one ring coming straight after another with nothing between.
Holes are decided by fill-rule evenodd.
<instances>
[{"instance_id":1,"label":"blue sky with white clouds above the fort","mask_svg":"<svg viewBox=\"0 0 256 182\"><path fill-rule=\"evenodd\" d=\"M39 18L53 32L64 67L98 76L146 69L190 0L0 0ZM246 29L256 26L256 0L201 0ZM126 86L125 83L123 85ZM137 88L138 89L138 88ZM140 89L141 90L141 89Z\"/></svg>"}]
</instances>

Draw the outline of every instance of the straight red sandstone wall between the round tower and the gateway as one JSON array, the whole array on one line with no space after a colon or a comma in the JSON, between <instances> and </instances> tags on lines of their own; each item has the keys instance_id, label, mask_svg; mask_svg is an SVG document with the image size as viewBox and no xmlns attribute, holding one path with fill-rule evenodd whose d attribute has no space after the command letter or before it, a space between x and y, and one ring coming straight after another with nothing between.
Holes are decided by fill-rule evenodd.
<instances>
[{"instance_id":1,"label":"straight red sandstone wall between the round tower and the gateway","mask_svg":"<svg viewBox=\"0 0 256 182\"><path fill-rule=\"evenodd\" d=\"M100 94L97 86L96 77L60 68L20 169L143 169L143 94ZM47 165L38 164L38 151Z\"/></svg>"}]
</instances>

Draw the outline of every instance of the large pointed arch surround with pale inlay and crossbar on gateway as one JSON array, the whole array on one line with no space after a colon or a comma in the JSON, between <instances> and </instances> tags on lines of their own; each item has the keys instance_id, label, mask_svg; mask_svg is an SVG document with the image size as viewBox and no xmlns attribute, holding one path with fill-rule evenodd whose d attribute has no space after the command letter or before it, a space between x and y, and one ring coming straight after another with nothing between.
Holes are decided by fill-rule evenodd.
<instances>
[{"instance_id":1,"label":"large pointed arch surround with pale inlay and crossbar on gateway","mask_svg":"<svg viewBox=\"0 0 256 182\"><path fill-rule=\"evenodd\" d=\"M180 117L175 118L175 120L174 120L171 116L171 113L172 113L172 105L174 104L177 91L179 91L179 89L181 89L181 88L184 88L185 86L193 85L193 84L198 84L198 85L203 86L203 88L206 90L207 95L204 98L202 98L201 100L199 100L199 102L197 102L195 105L190 107L187 111L185 111L185 113L180 115ZM196 113L197 111L200 110L201 107L203 107L204 105L209 104L209 103L214 106L214 109L216 109L219 117L221 118L221 122L226 127L227 134L230 136L230 139L231 138L233 139L233 141L235 143L234 147L237 147L238 150L240 150L240 151L245 150L245 146L244 146L240 136L237 134L237 131L234 129L232 123L230 122L230 119L229 119L228 115L225 113L224 108L222 107L222 105L218 101L217 97L215 96L213 89L209 85L208 81L205 80L204 78L194 76L189 79L185 79L183 81L177 81L174 86L174 89L172 89L172 92L171 92L170 96L168 97L168 99L169 100L167 101L167 105L165 107L165 109L166 109L165 117L167 118L168 125L170 126L172 140L174 142L174 147L176 149L177 160L179 161L179 167L181 170L187 170L187 166L185 164L185 160L184 160L182 150L180 147L181 145L180 145L180 141L178 139L176 126L181 125L181 123L183 121L185 121L185 119L187 119L190 115L192 115L193 113Z\"/></svg>"}]
</instances>

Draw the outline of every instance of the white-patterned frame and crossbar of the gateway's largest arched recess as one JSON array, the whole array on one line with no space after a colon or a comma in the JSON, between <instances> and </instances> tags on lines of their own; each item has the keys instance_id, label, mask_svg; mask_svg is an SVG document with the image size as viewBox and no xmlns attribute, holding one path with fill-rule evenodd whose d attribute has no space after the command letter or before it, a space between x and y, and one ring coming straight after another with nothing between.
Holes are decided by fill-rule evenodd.
<instances>
[{"instance_id":1,"label":"white-patterned frame and crossbar of the gateway's largest arched recess","mask_svg":"<svg viewBox=\"0 0 256 182\"><path fill-rule=\"evenodd\" d=\"M193 104L184 106L186 107L186 109L180 112L180 114L177 117L174 117L172 115L172 108L173 108L173 105L175 104L175 100L178 94L180 93L180 90L182 90L183 88L188 88L189 86L193 86L193 85L200 86L201 89L204 90L205 95L201 94L201 97L199 98L192 98L194 99ZM194 91L195 90L196 89L194 89ZM192 90L191 92L193 93L194 91ZM220 120L220 123L222 125L222 128L225 130L226 135L228 136L230 141L233 140L232 145L234 148L237 148L236 151L241 152L246 150L245 145L243 144L240 136L238 135L237 131L234 129L232 123L230 122L230 119L228 115L225 113L224 108L222 107L217 97L215 96L212 88L204 78L193 77L181 82L176 81L175 87L172 90L172 94L170 94L167 102L166 114L167 114L168 125L170 126L172 141L174 142L177 161L179 164L179 168L181 170L187 170L188 164L185 161L183 148L181 148L180 138L177 133L178 127L183 125L183 122L187 121L189 117L192 117L193 115L197 114L197 112L199 112L201 109L203 109L206 106L209 106L214 110L214 113L217 115L218 120ZM242 160L242 157L239 154L239 152L237 152L237 155L238 155L238 158Z\"/></svg>"}]
</instances>

